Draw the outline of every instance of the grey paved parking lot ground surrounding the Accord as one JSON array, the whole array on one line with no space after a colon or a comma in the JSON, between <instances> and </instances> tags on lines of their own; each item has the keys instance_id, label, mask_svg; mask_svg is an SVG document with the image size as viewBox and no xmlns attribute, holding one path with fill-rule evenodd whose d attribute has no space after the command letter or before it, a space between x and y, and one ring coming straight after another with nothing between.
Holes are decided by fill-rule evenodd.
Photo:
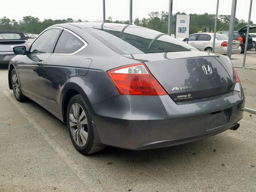
<instances>
[{"instance_id":1,"label":"grey paved parking lot ground surrounding the Accord","mask_svg":"<svg viewBox=\"0 0 256 192\"><path fill-rule=\"evenodd\" d=\"M246 106L255 106L256 71L237 69ZM256 114L237 131L197 142L132 151L107 147L84 156L66 125L32 101L19 103L0 69L1 192L255 192Z\"/></svg>"}]
</instances>

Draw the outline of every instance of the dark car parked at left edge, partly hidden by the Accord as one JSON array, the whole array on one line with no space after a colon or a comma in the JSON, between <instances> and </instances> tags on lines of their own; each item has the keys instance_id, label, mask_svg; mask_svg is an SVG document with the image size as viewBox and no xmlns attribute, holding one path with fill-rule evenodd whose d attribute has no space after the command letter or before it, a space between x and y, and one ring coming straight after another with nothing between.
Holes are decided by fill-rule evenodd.
<instances>
[{"instance_id":1,"label":"dark car parked at left edge, partly hidden by the Accord","mask_svg":"<svg viewBox=\"0 0 256 192\"><path fill-rule=\"evenodd\" d=\"M27 46L24 34L12 30L0 30L0 64L8 64L15 56L15 46Z\"/></svg>"}]
</instances>

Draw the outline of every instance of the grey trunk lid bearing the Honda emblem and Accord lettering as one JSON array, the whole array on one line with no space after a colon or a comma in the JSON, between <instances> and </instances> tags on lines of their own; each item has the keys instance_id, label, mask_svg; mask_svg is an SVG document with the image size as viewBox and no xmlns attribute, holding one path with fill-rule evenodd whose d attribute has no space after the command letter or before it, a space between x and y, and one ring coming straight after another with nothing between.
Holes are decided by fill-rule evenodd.
<instances>
[{"instance_id":1,"label":"grey trunk lid bearing the Honda emblem and Accord lettering","mask_svg":"<svg viewBox=\"0 0 256 192\"><path fill-rule=\"evenodd\" d=\"M144 62L174 101L223 94L235 83L232 64L218 54L191 51L126 56Z\"/></svg>"}]
</instances>

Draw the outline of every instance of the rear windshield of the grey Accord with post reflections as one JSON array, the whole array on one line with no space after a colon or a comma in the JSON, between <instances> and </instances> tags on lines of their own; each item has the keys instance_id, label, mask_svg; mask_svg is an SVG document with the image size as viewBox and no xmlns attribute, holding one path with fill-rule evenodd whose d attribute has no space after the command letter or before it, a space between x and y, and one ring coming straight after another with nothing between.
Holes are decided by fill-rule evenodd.
<instances>
[{"instance_id":1,"label":"rear windshield of the grey Accord with post reflections","mask_svg":"<svg viewBox=\"0 0 256 192\"><path fill-rule=\"evenodd\" d=\"M161 32L140 27L92 28L96 38L124 54L180 52L195 50L194 47Z\"/></svg>"}]
</instances>

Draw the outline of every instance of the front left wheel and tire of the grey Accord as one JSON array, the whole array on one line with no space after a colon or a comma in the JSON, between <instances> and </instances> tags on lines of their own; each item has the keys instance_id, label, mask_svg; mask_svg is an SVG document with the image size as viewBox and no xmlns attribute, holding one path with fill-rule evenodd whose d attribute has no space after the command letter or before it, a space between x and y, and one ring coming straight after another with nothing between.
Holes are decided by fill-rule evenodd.
<instances>
[{"instance_id":1,"label":"front left wheel and tire of the grey Accord","mask_svg":"<svg viewBox=\"0 0 256 192\"><path fill-rule=\"evenodd\" d=\"M18 76L16 74L15 69L12 69L12 72L11 72L11 82L12 82L13 94L14 94L16 100L19 102L25 101L26 96L24 96L24 94L22 93L22 90L20 88L20 83L18 81Z\"/></svg>"}]
</instances>

